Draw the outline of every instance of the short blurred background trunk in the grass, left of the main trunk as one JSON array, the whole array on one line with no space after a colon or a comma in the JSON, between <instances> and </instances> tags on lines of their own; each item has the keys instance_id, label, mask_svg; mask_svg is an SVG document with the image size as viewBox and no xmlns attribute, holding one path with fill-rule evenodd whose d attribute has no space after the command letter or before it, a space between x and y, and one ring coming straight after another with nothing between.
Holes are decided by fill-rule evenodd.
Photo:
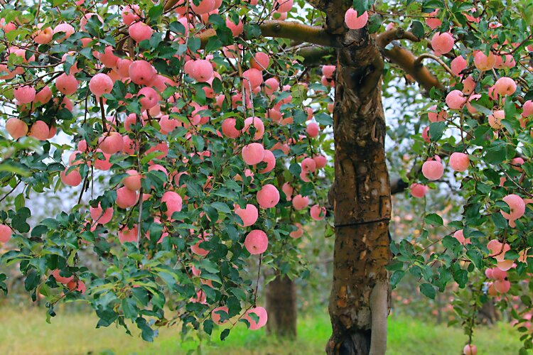
<instances>
[{"instance_id":1,"label":"short blurred background trunk in the grass, left of the main trunk","mask_svg":"<svg viewBox=\"0 0 533 355\"><path fill-rule=\"evenodd\" d=\"M277 275L266 285L266 332L296 338L296 285L286 275Z\"/></svg>"}]
</instances>

